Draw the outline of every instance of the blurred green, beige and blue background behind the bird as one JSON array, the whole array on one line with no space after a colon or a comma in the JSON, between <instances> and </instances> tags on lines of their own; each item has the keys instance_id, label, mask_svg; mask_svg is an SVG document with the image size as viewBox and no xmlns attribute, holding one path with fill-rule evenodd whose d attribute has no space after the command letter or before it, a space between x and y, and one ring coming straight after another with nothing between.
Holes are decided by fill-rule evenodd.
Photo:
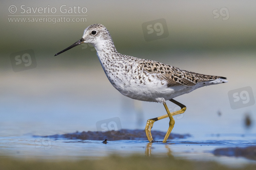
<instances>
[{"instance_id":1,"label":"blurred green, beige and blue background behind the bird","mask_svg":"<svg viewBox=\"0 0 256 170\"><path fill-rule=\"evenodd\" d=\"M21 5L25 5L22 6L25 12ZM63 14L61 5L66 5L66 9L86 7L87 12ZM255 1L231 0L2 1L1 136L96 131L96 122L113 117L120 118L123 129L144 129L147 119L166 114L162 104L129 99L112 87L93 47L83 44L54 57L79 40L84 29L94 23L101 23L109 30L119 53L228 78L228 83L203 87L175 98L187 110L175 117L173 133L255 133L255 104L240 103L240 108L232 109L233 101L228 96L230 90L247 86L252 88L251 101L256 95L255 5ZM46 14L40 10L29 13L27 10L32 7L34 10L45 7ZM51 13L53 7L56 13ZM14 20L60 18L59 15L86 20L56 23ZM161 18L166 20L169 35L146 41L142 24ZM22 58L22 51L29 49L34 52L32 62L36 65L14 72L12 54L20 53ZM29 62L26 56L23 59L22 62ZM167 105L170 110L177 108L171 102ZM246 115L251 120L247 126ZM168 119L160 120L153 130L165 132L168 123Z\"/></svg>"}]
</instances>

